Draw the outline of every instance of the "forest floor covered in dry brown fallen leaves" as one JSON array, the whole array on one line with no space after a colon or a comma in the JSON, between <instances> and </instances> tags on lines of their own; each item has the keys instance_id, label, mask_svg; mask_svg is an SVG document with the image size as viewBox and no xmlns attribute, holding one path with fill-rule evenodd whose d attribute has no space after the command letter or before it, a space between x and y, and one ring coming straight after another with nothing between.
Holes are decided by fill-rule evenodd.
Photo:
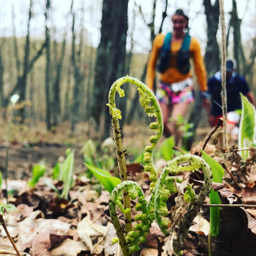
<instances>
[{"instance_id":1,"label":"forest floor covered in dry brown fallen leaves","mask_svg":"<svg viewBox=\"0 0 256 256\"><path fill-rule=\"evenodd\" d=\"M5 169L6 129L6 126L2 125L1 171ZM207 128L197 130L193 145L194 151L197 150L195 145L207 135L208 131ZM140 123L133 123L124 127L123 135L125 136L124 147L130 154L128 160L130 159L132 163L133 158L144 150L145 145L148 145L148 138L152 135L152 131ZM81 176L86 172L86 168L80 150L89 138L95 140L96 137L97 134L88 133L88 127L84 123L77 126L75 134L69 132L67 124L63 124L50 133L44 129L44 125L33 129L26 126L12 127L8 186L16 192L9 196L9 201L15 204L20 212L15 215L6 214L4 219L18 248L25 254L32 256L116 255L117 244L111 243L112 237L115 237L115 230L108 216L109 193L99 189L94 178L88 179L86 176ZM63 200L59 199L55 191L46 186L44 182L50 179L51 170L58 158L65 157L67 148L75 150L74 184L69 193L69 200ZM218 150L212 145L205 148L205 151L213 154ZM232 161L237 161L236 151L230 150L227 158L229 162L225 162L226 166ZM35 189L30 189L27 186L27 180L31 177L31 168L42 160L47 165L47 175L40 179ZM219 187L222 203L256 204L256 186L254 186L256 168L253 163L247 163L246 170L241 170L241 166L238 165L235 169L233 168L233 174L241 190L233 183L229 175L225 176L222 187ZM161 162L161 165L165 163ZM249 167L250 170L248 170ZM141 172L141 166L133 170L132 179L140 184L147 195L148 174ZM193 179L197 177L193 176ZM59 191L62 191L63 183L55 182L54 184ZM1 198L0 202L4 202L3 192ZM207 200L205 203L208 202ZM173 205L173 198L169 198L168 203ZM241 207L223 208L221 216L222 230L218 239L212 239L213 255L255 255L256 210L245 210ZM209 208L203 207L185 240L183 255L208 255L208 231ZM157 256L159 238L161 240L163 237L159 227L153 223L148 242L135 255ZM13 251L4 230L0 228L0 253L3 250L8 251L6 255L11 255L10 251Z\"/></svg>"}]
</instances>

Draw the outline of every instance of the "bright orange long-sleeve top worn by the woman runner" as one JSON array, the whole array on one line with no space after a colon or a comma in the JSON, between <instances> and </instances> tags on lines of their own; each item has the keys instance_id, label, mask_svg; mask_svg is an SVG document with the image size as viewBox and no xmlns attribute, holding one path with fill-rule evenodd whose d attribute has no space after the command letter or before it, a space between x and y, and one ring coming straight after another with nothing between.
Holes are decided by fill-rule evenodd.
<instances>
[{"instance_id":1,"label":"bright orange long-sleeve top worn by the woman runner","mask_svg":"<svg viewBox=\"0 0 256 256\"><path fill-rule=\"evenodd\" d=\"M153 89L157 60L158 60L158 56L159 56L161 47L163 45L164 39L165 39L165 35L163 35L162 33L158 34L155 37L152 45L150 58L148 60L146 85L151 90ZM176 68L177 52L179 51L181 46L182 46L182 40L171 42L170 65L164 73L160 74L160 80L163 83L172 84L192 76L191 70L188 74L182 74ZM206 73L204 61L201 55L200 44L197 41L197 39L194 37L191 37L189 51L190 51L190 58L193 59L193 62L194 62L194 70L195 70L195 75L197 77L199 88L201 91L206 91L207 90L207 73Z\"/></svg>"}]
</instances>

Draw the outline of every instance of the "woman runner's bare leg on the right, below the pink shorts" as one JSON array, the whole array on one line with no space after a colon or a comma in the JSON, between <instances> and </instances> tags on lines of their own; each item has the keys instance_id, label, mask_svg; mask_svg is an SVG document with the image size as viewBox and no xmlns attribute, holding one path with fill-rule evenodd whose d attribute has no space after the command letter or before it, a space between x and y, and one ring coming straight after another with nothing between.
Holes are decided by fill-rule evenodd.
<instances>
[{"instance_id":1,"label":"woman runner's bare leg on the right, below the pink shorts","mask_svg":"<svg viewBox=\"0 0 256 256\"><path fill-rule=\"evenodd\" d=\"M179 116L182 116L184 118L187 111L187 107L189 105L190 104L187 102L180 102L173 105L171 118L177 119ZM179 127L176 126L176 122L172 121L170 131L175 136L175 144L177 146L179 146L179 143L182 142L182 133L178 129Z\"/></svg>"}]
</instances>

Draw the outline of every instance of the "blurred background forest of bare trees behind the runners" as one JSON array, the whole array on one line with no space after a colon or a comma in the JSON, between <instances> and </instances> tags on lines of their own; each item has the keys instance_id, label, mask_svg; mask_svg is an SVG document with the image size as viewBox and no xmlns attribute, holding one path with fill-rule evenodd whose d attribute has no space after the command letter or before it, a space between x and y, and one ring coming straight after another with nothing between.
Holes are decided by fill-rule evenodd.
<instances>
[{"instance_id":1,"label":"blurred background forest of bare trees behind the runners","mask_svg":"<svg viewBox=\"0 0 256 256\"><path fill-rule=\"evenodd\" d=\"M172 13L183 7L190 11L190 34L201 43L209 77L221 64L219 1L2 0L2 122L7 123L9 99L16 93L15 122L29 129L54 132L65 122L75 133L83 122L88 136L98 131L100 138L109 137L109 88L127 74L145 81L155 35L170 31ZM256 2L225 0L225 13L228 55L255 91ZM122 125L148 123L136 88L125 90L126 97L117 99ZM195 127L207 126L200 119L199 100L188 113Z\"/></svg>"}]
</instances>

